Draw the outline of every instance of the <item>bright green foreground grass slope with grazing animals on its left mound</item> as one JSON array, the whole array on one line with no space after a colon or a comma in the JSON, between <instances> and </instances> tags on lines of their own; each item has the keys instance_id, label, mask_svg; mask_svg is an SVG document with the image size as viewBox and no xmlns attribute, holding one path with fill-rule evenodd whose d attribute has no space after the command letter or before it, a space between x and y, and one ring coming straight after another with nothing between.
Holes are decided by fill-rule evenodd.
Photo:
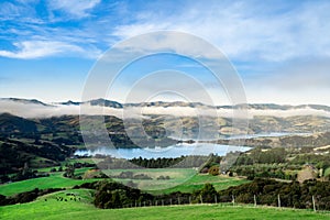
<instances>
[{"instance_id":1,"label":"bright green foreground grass slope with grazing animals on its left mound","mask_svg":"<svg viewBox=\"0 0 330 220\"><path fill-rule=\"evenodd\" d=\"M76 195L78 201L70 200ZM67 201L57 201L62 196ZM46 199L46 200L45 200ZM194 205L172 207L143 207L127 209L97 209L91 204L91 193L86 189L66 190L40 197L30 204L0 207L0 219L46 219L46 220L81 220L81 219L329 219L329 213L309 210L278 209L270 207L250 207L230 205Z\"/></svg>"}]
</instances>

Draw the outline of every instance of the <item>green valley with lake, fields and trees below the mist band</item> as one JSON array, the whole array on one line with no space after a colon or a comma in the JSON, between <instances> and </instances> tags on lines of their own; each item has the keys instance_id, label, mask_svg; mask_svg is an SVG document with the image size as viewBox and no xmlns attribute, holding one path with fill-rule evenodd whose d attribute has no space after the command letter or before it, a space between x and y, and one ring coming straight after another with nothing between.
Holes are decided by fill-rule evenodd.
<instances>
[{"instance_id":1,"label":"green valley with lake, fields and trees below the mist band","mask_svg":"<svg viewBox=\"0 0 330 220\"><path fill-rule=\"evenodd\" d=\"M10 101L56 108L37 100ZM57 105L77 107L84 103ZM123 106L107 100L92 100L89 105L113 109L209 108L201 103L184 102ZM306 107L250 105L249 108L260 113L295 111ZM308 108L329 111L323 106ZM282 206L311 209L311 196L316 196L318 212L299 210L299 215L306 219L327 218L329 120L326 114L275 117L260 113L250 118L249 127L243 128L243 119L233 122L226 117L204 116L200 119L175 113L144 114L141 124L138 118L123 120L116 116L24 118L1 113L0 209L4 219L21 218L21 212L31 215L31 218L46 219L42 216L46 210L54 213L51 219L66 215L80 218L80 215L88 215L91 210L101 218L106 213L120 211L117 208L124 208L121 216L127 215L128 218L147 210L146 216L139 215L147 219L153 218L148 215L158 209L165 213L168 211L168 217L173 217L174 209L185 215L195 206L194 209L206 213L206 219L212 215L229 215L229 210L232 210L233 218L242 211L270 211L270 215L276 212L278 217L290 217L297 213L296 209L280 209L278 212L264 206L278 206L276 193L273 194L275 189L283 195L299 186L295 194L287 198L283 196ZM111 142L103 140L105 130L99 129L100 122L105 124L106 136ZM239 127L232 129L234 123ZM215 128L218 128L216 132ZM314 188L319 183L322 183L321 188ZM264 188L260 188L262 185ZM258 188L253 188L256 186ZM299 196L302 191L308 196ZM140 197L134 197L135 194ZM260 206L251 207L253 197ZM63 201L59 202L58 198ZM233 198L237 202L234 207L230 205ZM68 206L63 213L61 204L65 200ZM132 205L135 202L139 204L136 208ZM153 207L147 207L148 202ZM146 207L143 207L144 204ZM44 209L45 205L50 208ZM29 212L31 206L36 210L33 213ZM100 210L95 206L110 210ZM207 207L210 212L206 211ZM44 210L38 212L38 209ZM16 210L16 213L9 215L10 210Z\"/></svg>"}]
</instances>

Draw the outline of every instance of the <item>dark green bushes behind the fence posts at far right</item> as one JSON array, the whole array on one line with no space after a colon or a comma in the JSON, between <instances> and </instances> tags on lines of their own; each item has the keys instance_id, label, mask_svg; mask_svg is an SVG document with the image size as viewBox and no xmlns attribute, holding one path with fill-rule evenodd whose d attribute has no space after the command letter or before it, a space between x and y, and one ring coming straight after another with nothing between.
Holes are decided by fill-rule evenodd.
<instances>
[{"instance_id":1,"label":"dark green bushes behind the fence posts at far right","mask_svg":"<svg viewBox=\"0 0 330 220\"><path fill-rule=\"evenodd\" d=\"M316 200L317 209L330 210L330 183L306 180L283 183L272 179L255 178L249 184L222 190L220 201L228 202L235 198L237 202L312 209ZM257 198L257 200L255 200Z\"/></svg>"}]
</instances>

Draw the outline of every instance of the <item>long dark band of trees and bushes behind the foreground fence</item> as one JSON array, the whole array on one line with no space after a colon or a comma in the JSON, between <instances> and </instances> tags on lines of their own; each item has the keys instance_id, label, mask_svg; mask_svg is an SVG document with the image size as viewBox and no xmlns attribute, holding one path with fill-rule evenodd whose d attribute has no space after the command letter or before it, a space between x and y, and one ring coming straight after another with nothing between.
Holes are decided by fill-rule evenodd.
<instances>
[{"instance_id":1,"label":"long dark band of trees and bushes behind the foreground fence","mask_svg":"<svg viewBox=\"0 0 330 220\"><path fill-rule=\"evenodd\" d=\"M299 209L330 210L330 183L316 180L299 184L280 183L256 178L240 186L217 191L211 184L194 193L151 195L113 182L86 183L76 188L95 189L94 204L98 208L113 209L143 206L168 206L184 204L241 202Z\"/></svg>"}]
</instances>

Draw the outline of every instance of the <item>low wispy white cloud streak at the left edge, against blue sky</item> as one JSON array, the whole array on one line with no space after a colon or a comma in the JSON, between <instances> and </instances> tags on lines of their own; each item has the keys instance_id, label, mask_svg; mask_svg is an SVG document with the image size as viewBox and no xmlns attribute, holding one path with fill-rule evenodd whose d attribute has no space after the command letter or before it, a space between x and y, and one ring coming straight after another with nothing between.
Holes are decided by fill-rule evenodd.
<instances>
[{"instance_id":1,"label":"low wispy white cloud streak at the left edge, against blue sky","mask_svg":"<svg viewBox=\"0 0 330 220\"><path fill-rule=\"evenodd\" d=\"M77 45L56 41L24 41L14 43L14 46L18 47L18 51L0 51L0 56L29 59L63 53L85 54L85 56L96 56L99 54L98 51L95 51L95 54L85 53L85 50Z\"/></svg>"}]
</instances>

